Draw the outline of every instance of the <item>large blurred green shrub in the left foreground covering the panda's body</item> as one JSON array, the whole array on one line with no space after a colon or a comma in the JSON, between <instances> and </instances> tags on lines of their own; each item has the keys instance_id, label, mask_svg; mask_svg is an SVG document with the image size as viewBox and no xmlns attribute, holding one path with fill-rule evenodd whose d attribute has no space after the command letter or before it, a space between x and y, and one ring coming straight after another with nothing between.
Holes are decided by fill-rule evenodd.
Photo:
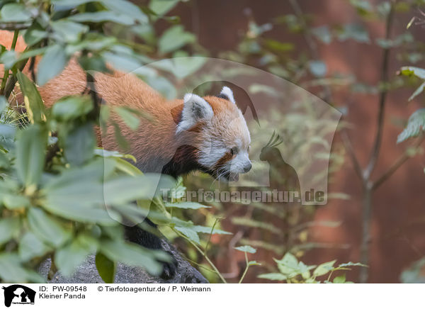
<instances>
[{"instance_id":1,"label":"large blurred green shrub in the left foreground covering the panda's body","mask_svg":"<svg viewBox=\"0 0 425 309\"><path fill-rule=\"evenodd\" d=\"M107 64L128 72L139 69L135 73L141 78L169 92L164 78L142 67L151 61L148 52L137 52L135 43L108 34L108 28L123 27L147 38L149 46L150 27L177 2L151 1L140 8L123 0L0 1L0 24L15 30L15 43L22 34L27 44L21 53L13 43L11 50L2 47L0 54L5 67L0 91L6 94L0 96L1 281L45 281L35 270L47 257L52 258L52 270L71 276L88 254L96 254L96 266L106 282L113 281L117 262L158 275L162 271L159 262L169 262L168 254L127 242L120 224L136 224L147 215L196 244L198 233L226 233L193 225L168 211L193 206L164 204L158 196L153 207L146 208L157 190L156 176L142 174L130 164L135 161L130 155L96 148L94 127L99 121L113 125L118 143L125 145L111 114L133 130L139 127L140 116L149 115L107 106L99 115L93 95L64 97L46 109L37 89L76 57L86 72L108 72ZM158 44L158 52L164 54L194 41L181 26L172 26L152 46ZM21 73L35 56L42 56L37 72L32 71L36 84ZM88 73L91 89L89 79ZM13 89L16 82L17 88L7 94L9 84ZM24 108L17 105L18 91L23 94ZM181 185L166 176L159 183L162 188ZM133 203L136 200L139 206Z\"/></svg>"}]
</instances>

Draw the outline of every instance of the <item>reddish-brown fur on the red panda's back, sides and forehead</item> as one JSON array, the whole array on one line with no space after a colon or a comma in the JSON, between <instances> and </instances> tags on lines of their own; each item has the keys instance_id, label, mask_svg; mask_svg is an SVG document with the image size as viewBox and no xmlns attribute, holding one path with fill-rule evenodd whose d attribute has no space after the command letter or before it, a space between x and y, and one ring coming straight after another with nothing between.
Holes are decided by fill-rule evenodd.
<instances>
[{"instance_id":1,"label":"reddish-brown fur on the red panda's back, sides and forehead","mask_svg":"<svg viewBox=\"0 0 425 309\"><path fill-rule=\"evenodd\" d=\"M10 47L12 38L12 33L0 31L0 43L2 45ZM19 38L16 50L22 51L24 48L25 43L23 43L22 38ZM1 71L3 71L2 66L0 67ZM27 68L24 71L28 74ZM200 135L202 123L192 128L191 132L183 133L179 139L176 139L176 125L181 117L183 100L166 101L157 91L132 74L121 72L114 72L113 74L97 73L95 80L96 91L109 106L130 106L142 109L154 116L153 122L141 118L140 127L137 131L130 130L120 118L113 116L113 119L119 123L123 135L129 140L130 153L137 158L139 167L147 167L151 165L152 160L158 160L158 166L149 167L149 169L161 172L158 171L159 166L174 157L176 149L181 145L195 147L200 145L203 139L203 136ZM58 77L39 87L47 108L50 108L62 96L78 95L85 89L86 74L75 59L69 62ZM232 102L216 96L206 96L204 99L210 103L215 116L217 116L215 121L212 122L209 134L220 132L222 121L231 121L239 117L238 109L232 106ZM234 130L237 131L237 125ZM106 132L98 133L98 138L99 144L105 149L118 149L112 126L109 126ZM224 136L224 138L227 137ZM228 138L232 139L231 136L228 136Z\"/></svg>"}]
</instances>

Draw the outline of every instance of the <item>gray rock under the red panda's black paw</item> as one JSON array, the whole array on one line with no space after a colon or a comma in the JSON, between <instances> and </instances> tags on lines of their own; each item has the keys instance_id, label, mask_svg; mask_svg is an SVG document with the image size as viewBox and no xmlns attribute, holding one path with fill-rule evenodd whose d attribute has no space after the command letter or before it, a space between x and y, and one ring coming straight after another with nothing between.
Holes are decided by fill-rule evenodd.
<instances>
[{"instance_id":1,"label":"gray rock under the red panda's black paw","mask_svg":"<svg viewBox=\"0 0 425 309\"><path fill-rule=\"evenodd\" d=\"M173 245L163 241L163 247L166 251L170 252L174 259L177 261L176 275L169 279L164 280L161 278L149 275L145 270L140 267L127 266L118 263L115 274L115 283L208 283L207 279L191 264L181 257L179 252ZM46 259L40 265L39 272L47 279L47 274L50 270L50 259ZM67 278L62 276L59 271L53 276L50 283L103 283L103 280L98 275L96 269L95 257L91 255L87 257L86 262L81 264L74 275Z\"/></svg>"}]
</instances>

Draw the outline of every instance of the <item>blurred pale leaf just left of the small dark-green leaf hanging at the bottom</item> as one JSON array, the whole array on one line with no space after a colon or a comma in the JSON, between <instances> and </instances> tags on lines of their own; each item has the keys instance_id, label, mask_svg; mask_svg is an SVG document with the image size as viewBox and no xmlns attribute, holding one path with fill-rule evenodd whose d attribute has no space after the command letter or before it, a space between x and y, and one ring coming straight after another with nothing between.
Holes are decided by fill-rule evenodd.
<instances>
[{"instance_id":1,"label":"blurred pale leaf just left of the small dark-green leaf hanging at the bottom","mask_svg":"<svg viewBox=\"0 0 425 309\"><path fill-rule=\"evenodd\" d=\"M55 264L60 273L72 276L75 269L83 264L89 254L96 252L97 242L86 235L78 235L69 245L57 250Z\"/></svg>"}]
</instances>

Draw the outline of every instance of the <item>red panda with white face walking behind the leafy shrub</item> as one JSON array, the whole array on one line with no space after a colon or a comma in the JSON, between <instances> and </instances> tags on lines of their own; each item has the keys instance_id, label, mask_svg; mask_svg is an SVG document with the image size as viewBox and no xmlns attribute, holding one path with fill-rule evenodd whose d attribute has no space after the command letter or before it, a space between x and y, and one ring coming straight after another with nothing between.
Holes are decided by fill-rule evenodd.
<instances>
[{"instance_id":1,"label":"red panda with white face walking behind the leafy shrub","mask_svg":"<svg viewBox=\"0 0 425 309\"><path fill-rule=\"evenodd\" d=\"M1 45L10 47L11 40L11 33L0 31ZM19 38L16 50L22 51L24 48L25 44ZM1 76L3 70L0 66ZM29 75L28 68L24 72ZM237 181L239 174L251 169L251 137L244 116L228 87L223 87L217 96L186 94L183 99L166 101L132 74L96 73L94 80L96 93L104 103L141 109L153 116L153 121L141 118L135 131L119 118L114 119L130 142L129 153L136 157L137 167L142 172L176 177L200 170L217 179ZM50 108L62 96L83 93L86 90L86 74L72 59L59 76L38 89L45 106ZM97 131L99 144L104 149L118 150L112 127L103 133ZM154 235L137 227L128 230L130 241L153 249L162 248L160 240ZM176 265L164 264L163 278L173 276L175 270Z\"/></svg>"}]
</instances>

